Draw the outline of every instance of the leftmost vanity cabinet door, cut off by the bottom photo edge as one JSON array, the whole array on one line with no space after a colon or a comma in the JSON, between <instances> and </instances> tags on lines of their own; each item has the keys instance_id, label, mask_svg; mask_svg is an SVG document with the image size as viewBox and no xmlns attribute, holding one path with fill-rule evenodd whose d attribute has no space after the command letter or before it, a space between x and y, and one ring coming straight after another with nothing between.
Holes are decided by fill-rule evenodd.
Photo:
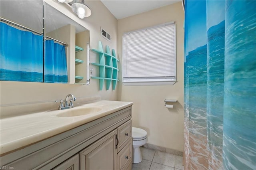
<instances>
[{"instance_id":1,"label":"leftmost vanity cabinet door, cut off by the bottom photo edge","mask_svg":"<svg viewBox=\"0 0 256 170\"><path fill-rule=\"evenodd\" d=\"M52 170L79 170L79 154L72 156Z\"/></svg>"}]
</instances>

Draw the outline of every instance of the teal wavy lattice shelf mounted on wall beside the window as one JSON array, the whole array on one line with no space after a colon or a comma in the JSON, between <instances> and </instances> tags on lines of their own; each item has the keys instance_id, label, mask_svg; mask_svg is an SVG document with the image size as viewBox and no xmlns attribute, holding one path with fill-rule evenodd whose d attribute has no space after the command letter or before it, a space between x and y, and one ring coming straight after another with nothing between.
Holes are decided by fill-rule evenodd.
<instances>
[{"instance_id":1,"label":"teal wavy lattice shelf mounted on wall beside the window","mask_svg":"<svg viewBox=\"0 0 256 170\"><path fill-rule=\"evenodd\" d=\"M106 89L110 88L112 82L113 90L116 89L116 84L118 80L118 67L117 62L119 61L116 58L116 52L114 49L110 51L108 45L106 45L106 52L103 50L102 42L99 42L99 49L91 49L92 51L98 53L99 63L91 63L96 65L100 69L99 77L91 77L92 79L100 80L100 90L103 89L104 81L106 81Z\"/></svg>"}]
</instances>

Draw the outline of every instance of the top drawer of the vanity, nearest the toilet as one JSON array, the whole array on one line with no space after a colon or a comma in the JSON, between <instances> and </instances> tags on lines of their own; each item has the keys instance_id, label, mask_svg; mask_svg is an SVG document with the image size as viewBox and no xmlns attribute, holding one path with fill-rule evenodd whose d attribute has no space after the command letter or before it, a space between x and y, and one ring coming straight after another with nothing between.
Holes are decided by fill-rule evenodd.
<instances>
[{"instance_id":1,"label":"top drawer of the vanity, nearest the toilet","mask_svg":"<svg viewBox=\"0 0 256 170\"><path fill-rule=\"evenodd\" d=\"M132 120L127 121L126 123L117 128L117 137L117 152L119 152L126 145L127 142L132 140Z\"/></svg>"}]
</instances>

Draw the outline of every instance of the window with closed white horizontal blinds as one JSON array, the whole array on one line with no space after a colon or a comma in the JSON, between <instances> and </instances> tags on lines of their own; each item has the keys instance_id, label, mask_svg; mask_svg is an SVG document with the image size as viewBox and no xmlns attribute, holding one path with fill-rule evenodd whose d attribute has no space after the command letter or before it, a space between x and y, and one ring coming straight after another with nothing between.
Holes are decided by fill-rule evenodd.
<instances>
[{"instance_id":1,"label":"window with closed white horizontal blinds","mask_svg":"<svg viewBox=\"0 0 256 170\"><path fill-rule=\"evenodd\" d=\"M124 85L172 85L176 82L174 22L123 35Z\"/></svg>"}]
</instances>

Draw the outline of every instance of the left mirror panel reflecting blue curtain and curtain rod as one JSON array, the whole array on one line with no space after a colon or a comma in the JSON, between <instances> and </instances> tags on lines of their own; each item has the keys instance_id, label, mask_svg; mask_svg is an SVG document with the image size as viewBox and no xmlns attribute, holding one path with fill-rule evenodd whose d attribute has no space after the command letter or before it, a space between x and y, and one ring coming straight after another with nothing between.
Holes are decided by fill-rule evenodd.
<instances>
[{"instance_id":1,"label":"left mirror panel reflecting blue curtain and curtain rod","mask_svg":"<svg viewBox=\"0 0 256 170\"><path fill-rule=\"evenodd\" d=\"M43 1L0 1L0 80L43 82L43 12Z\"/></svg>"}]
</instances>

